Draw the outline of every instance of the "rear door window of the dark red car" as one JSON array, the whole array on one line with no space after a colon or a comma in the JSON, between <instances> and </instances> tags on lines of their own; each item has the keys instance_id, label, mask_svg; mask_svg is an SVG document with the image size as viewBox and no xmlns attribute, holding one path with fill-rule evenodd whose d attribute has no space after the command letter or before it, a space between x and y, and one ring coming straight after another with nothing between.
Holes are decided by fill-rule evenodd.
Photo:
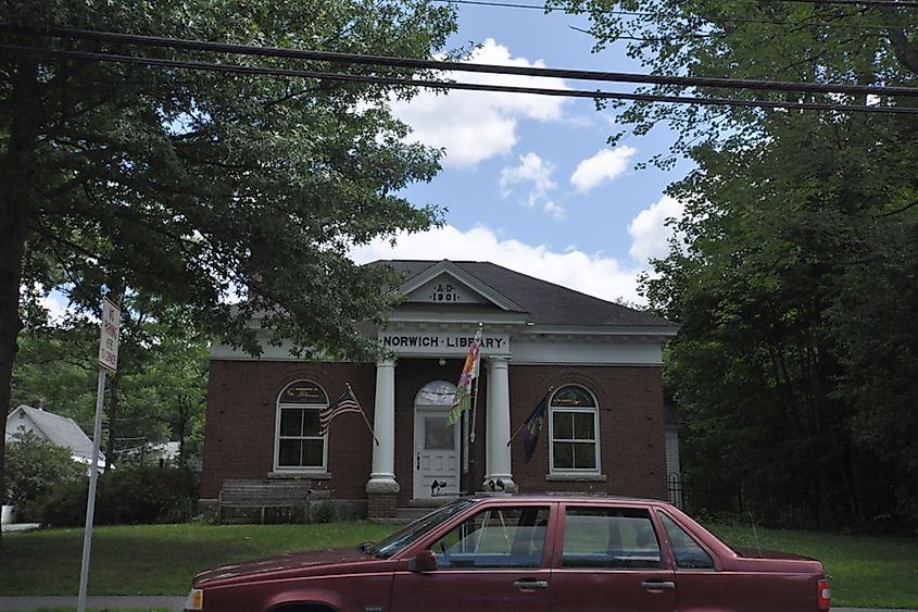
<instances>
[{"instance_id":1,"label":"rear door window of the dark red car","mask_svg":"<svg viewBox=\"0 0 918 612\"><path fill-rule=\"evenodd\" d=\"M568 505L563 567L646 570L662 566L659 540L647 510Z\"/></svg>"}]
</instances>

